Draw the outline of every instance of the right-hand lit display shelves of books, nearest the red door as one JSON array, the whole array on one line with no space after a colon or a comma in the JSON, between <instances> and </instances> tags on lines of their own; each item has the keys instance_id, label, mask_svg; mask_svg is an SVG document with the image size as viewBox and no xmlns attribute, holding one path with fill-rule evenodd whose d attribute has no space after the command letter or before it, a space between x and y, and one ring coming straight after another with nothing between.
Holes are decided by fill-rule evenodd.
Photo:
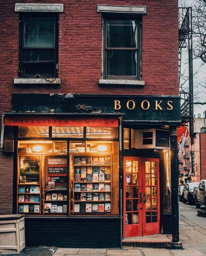
<instances>
[{"instance_id":1,"label":"right-hand lit display shelves of books, nearest the red door","mask_svg":"<svg viewBox=\"0 0 206 256\"><path fill-rule=\"evenodd\" d=\"M74 156L73 213L111 213L111 156Z\"/></svg>"}]
</instances>

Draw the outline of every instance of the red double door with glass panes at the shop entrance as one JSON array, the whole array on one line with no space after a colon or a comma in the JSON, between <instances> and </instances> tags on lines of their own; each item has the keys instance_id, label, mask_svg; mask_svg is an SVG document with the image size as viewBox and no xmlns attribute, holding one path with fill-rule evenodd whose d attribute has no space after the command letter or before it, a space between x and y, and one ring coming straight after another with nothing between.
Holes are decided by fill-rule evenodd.
<instances>
[{"instance_id":1,"label":"red double door with glass panes at the shop entrance","mask_svg":"<svg viewBox=\"0 0 206 256\"><path fill-rule=\"evenodd\" d=\"M123 191L123 237L159 234L159 158L124 157Z\"/></svg>"}]
</instances>

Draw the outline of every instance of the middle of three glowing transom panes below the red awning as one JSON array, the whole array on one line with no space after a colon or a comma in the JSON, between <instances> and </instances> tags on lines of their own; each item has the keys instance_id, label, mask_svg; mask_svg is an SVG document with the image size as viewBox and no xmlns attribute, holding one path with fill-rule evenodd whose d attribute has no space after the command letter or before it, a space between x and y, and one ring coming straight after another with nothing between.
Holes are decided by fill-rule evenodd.
<instances>
[{"instance_id":1,"label":"middle of three glowing transom panes below the red awning","mask_svg":"<svg viewBox=\"0 0 206 256\"><path fill-rule=\"evenodd\" d=\"M56 126L52 127L52 137L83 137L83 127Z\"/></svg>"}]
</instances>

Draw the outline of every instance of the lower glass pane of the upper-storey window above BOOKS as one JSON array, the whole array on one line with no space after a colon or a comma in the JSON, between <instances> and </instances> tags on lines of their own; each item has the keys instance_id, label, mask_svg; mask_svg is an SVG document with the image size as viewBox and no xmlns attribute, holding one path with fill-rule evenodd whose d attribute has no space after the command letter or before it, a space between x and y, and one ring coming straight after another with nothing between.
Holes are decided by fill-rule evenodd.
<instances>
[{"instance_id":1,"label":"lower glass pane of the upper-storey window above BOOKS","mask_svg":"<svg viewBox=\"0 0 206 256\"><path fill-rule=\"evenodd\" d=\"M136 76L136 50L106 50L107 76Z\"/></svg>"}]
</instances>

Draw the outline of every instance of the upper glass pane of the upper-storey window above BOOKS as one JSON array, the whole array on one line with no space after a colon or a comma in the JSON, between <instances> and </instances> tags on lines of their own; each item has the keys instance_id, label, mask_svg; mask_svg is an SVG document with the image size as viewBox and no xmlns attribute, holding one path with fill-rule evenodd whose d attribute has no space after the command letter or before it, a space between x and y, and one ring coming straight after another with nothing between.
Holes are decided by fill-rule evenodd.
<instances>
[{"instance_id":1,"label":"upper glass pane of the upper-storey window above BOOKS","mask_svg":"<svg viewBox=\"0 0 206 256\"><path fill-rule=\"evenodd\" d=\"M107 47L137 47L137 22L135 20L107 20Z\"/></svg>"}]
</instances>

